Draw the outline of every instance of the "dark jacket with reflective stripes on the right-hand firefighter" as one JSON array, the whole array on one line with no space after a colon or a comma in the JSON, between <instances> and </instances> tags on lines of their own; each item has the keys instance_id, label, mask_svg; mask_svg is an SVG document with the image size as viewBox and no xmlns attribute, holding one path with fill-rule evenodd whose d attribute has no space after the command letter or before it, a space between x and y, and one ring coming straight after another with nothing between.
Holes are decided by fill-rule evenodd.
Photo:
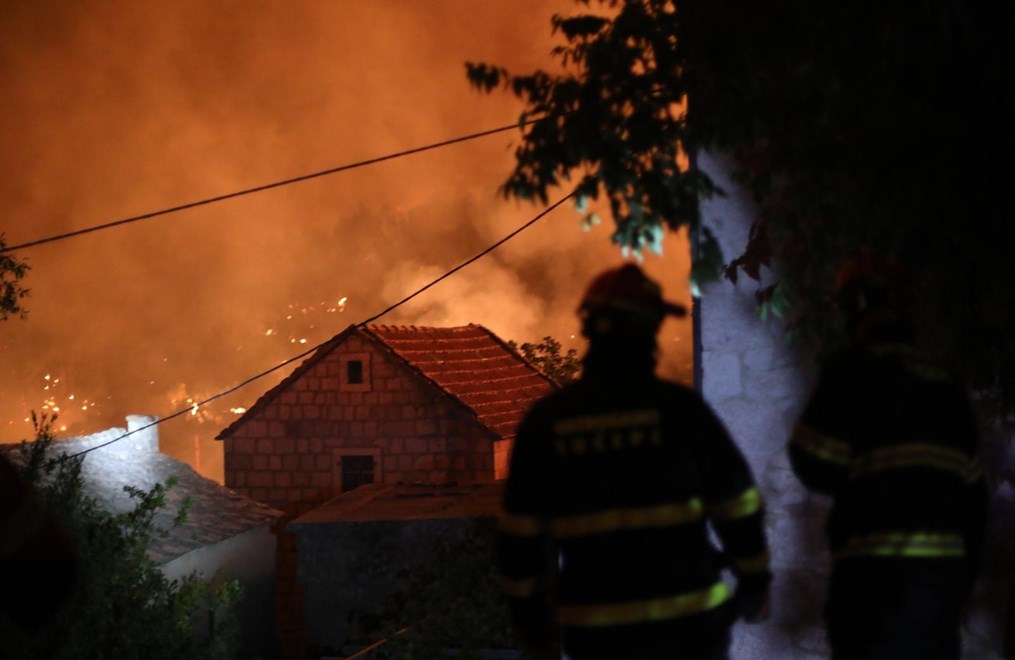
<instances>
[{"instance_id":1,"label":"dark jacket with reflective stripes on the right-hand firefighter","mask_svg":"<svg viewBox=\"0 0 1015 660\"><path fill-rule=\"evenodd\" d=\"M832 355L790 443L808 487L834 497L838 559L936 557L979 568L986 488L963 388L910 343Z\"/></svg>"}]
</instances>

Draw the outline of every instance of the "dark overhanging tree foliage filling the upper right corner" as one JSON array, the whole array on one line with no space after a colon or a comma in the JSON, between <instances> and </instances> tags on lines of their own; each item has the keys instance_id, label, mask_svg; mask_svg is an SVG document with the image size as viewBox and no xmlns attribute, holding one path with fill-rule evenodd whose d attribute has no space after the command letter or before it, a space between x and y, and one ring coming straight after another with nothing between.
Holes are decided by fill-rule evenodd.
<instances>
[{"instance_id":1,"label":"dark overhanging tree foliage filling the upper right corner","mask_svg":"<svg viewBox=\"0 0 1015 660\"><path fill-rule=\"evenodd\" d=\"M1015 6L994 0L578 0L554 16L557 68L467 64L478 88L525 103L503 193L545 199L577 179L605 195L614 240L651 247L697 230L693 275L724 263L700 202L721 194L684 151L732 156L757 203L751 241L724 272L779 283L762 310L835 339L832 273L861 247L919 286L922 327L978 387L1015 398Z\"/></svg>"}]
</instances>

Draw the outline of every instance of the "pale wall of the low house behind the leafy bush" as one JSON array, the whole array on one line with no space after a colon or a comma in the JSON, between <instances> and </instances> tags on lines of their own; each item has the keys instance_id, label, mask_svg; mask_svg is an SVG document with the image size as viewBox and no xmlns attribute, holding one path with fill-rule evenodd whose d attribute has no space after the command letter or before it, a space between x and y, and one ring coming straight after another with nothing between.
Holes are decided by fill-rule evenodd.
<instances>
[{"instance_id":1,"label":"pale wall of the low house behind the leafy bush","mask_svg":"<svg viewBox=\"0 0 1015 660\"><path fill-rule=\"evenodd\" d=\"M236 658L275 653L275 544L270 526L264 525L162 565L162 573L171 580L196 573L214 578L216 585L226 580L240 582L243 594L234 612L240 626Z\"/></svg>"}]
</instances>

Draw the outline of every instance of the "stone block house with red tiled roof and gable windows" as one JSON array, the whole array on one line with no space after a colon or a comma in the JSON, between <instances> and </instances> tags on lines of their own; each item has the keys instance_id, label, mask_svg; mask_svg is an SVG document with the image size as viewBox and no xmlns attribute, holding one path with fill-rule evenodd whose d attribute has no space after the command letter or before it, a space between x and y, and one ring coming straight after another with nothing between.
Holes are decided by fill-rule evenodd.
<instances>
[{"instance_id":1,"label":"stone block house with red tiled roof and gable windows","mask_svg":"<svg viewBox=\"0 0 1015 660\"><path fill-rule=\"evenodd\" d=\"M482 326L350 326L218 435L225 484L301 513L365 483L500 479L554 387Z\"/></svg>"}]
</instances>

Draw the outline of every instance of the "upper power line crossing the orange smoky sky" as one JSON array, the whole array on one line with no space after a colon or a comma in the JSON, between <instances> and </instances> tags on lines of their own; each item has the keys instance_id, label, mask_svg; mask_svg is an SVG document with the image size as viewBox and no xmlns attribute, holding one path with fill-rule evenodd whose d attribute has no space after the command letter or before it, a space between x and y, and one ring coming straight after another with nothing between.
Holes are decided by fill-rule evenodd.
<instances>
[{"instance_id":1,"label":"upper power line crossing the orange smoky sky","mask_svg":"<svg viewBox=\"0 0 1015 660\"><path fill-rule=\"evenodd\" d=\"M320 177L327 177L328 175L338 174L339 172L345 172L347 170L355 170L357 168L363 168L365 166L375 164L378 162L384 162L385 160L392 160L394 158L400 158L402 156L413 155L415 153L421 153L423 151L429 151L432 149L437 149L443 146L448 146L451 144L457 144L459 142L467 142L469 140L475 140L480 137L486 137L488 135L494 135L496 133L503 133L504 131L510 131L514 128L521 128L522 126L528 126L529 124L534 124L540 119L532 119L524 122L517 122L509 126L500 126L499 128L491 128L486 131L480 131L479 133L472 133L470 135L462 135L460 137L454 137L450 140L444 140L443 142L434 142L432 144L427 144L424 146L417 146L411 149L405 149L404 151L396 151L395 153L389 153L387 155L378 156L376 158L367 158L366 160L359 160L358 162L350 162L348 164L339 166L337 168L331 168L329 170L322 170L321 172L314 172L312 174L300 175L298 177L292 177L291 179L284 179L282 181L276 181L270 184L264 184L263 186L255 186L254 188L246 188L244 190L239 190L231 193L225 193L224 195L216 195L215 197L208 197L206 199L200 199L194 202L187 202L186 204L180 204L178 206L171 206L168 208L163 208L158 211L151 211L149 213L142 213L141 215L133 215L131 217L125 217L119 220L113 220L112 222L104 222L103 224L95 224L93 226L84 227L82 229L75 229L74 232L67 232L66 234L57 234L55 236L46 237L44 239L37 239L35 241L28 241L27 243L21 243L19 245L8 246L6 248L0 249L0 254L6 252L13 252L15 250L23 250L25 248L33 248L36 246L44 245L47 243L54 243L56 241L63 241L64 239L70 239L76 236L82 236L85 234L91 234L92 232L99 232L101 229L109 229L115 226L121 226L123 224L130 224L132 222L139 222L141 220L148 220L151 218L159 217L162 215L168 215L171 213L178 213L180 211L186 211L191 208L197 208L198 206L206 206L208 204L214 204L216 202L222 202L227 199L234 199L236 197L244 197L246 195L253 195L254 193L260 193L266 190L271 190L273 188L281 188L282 186L290 186L292 184L297 184L303 181L310 181L311 179L318 179Z\"/></svg>"}]
</instances>

